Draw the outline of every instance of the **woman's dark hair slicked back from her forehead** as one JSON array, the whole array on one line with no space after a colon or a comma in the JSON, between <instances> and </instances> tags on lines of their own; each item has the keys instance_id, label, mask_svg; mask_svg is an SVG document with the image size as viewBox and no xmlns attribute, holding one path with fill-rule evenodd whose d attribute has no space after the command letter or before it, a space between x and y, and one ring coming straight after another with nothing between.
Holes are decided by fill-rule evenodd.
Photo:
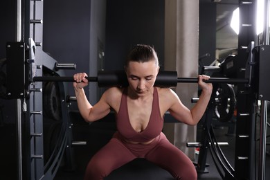
<instances>
[{"instance_id":1,"label":"woman's dark hair slicked back from her forehead","mask_svg":"<svg viewBox=\"0 0 270 180\"><path fill-rule=\"evenodd\" d=\"M149 62L155 61L156 65L159 66L159 59L156 55L156 51L149 45L137 44L129 51L127 55L126 66L129 62Z\"/></svg>"}]
</instances>

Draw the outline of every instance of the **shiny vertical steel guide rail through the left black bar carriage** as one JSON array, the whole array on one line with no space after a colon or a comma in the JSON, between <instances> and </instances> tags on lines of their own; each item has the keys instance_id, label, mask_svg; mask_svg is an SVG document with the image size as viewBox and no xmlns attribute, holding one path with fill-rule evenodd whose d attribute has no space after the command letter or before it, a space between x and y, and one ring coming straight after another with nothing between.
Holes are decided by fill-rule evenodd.
<instances>
[{"instance_id":1,"label":"shiny vertical steel guide rail through the left black bar carriage","mask_svg":"<svg viewBox=\"0 0 270 180\"><path fill-rule=\"evenodd\" d=\"M21 0L17 0L17 35L16 41L21 42ZM21 150L21 99L17 99L17 122L16 122L16 129L17 129L17 172L18 172L18 179L22 179L22 150Z\"/></svg>"}]
</instances>

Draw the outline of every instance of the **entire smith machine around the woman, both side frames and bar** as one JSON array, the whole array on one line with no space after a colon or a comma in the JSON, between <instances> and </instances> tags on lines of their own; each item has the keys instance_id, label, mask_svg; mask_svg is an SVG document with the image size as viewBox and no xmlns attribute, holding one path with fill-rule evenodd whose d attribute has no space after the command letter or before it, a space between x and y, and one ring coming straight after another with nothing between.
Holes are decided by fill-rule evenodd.
<instances>
[{"instance_id":1,"label":"entire smith machine around the woman, both side frames and bar","mask_svg":"<svg viewBox=\"0 0 270 180\"><path fill-rule=\"evenodd\" d=\"M269 2L267 1L267 4ZM253 1L240 1L240 12L251 15L254 12ZM268 7L268 6L267 6ZM267 10L268 13L268 10ZM241 15L241 14L240 14ZM254 14L253 14L254 15ZM252 16L253 16L252 15ZM241 15L242 16L242 15ZM248 19L249 16L244 16ZM269 17L269 16L265 16ZM72 77L64 77L64 69L75 69L75 64L58 64L56 60L42 51L42 18L43 1L17 1L17 41L6 44L6 97L17 100L17 172L18 179L53 179L60 166L62 157L66 154L66 163L73 165L72 134L69 120L69 105L63 82L73 82ZM210 78L213 84L237 84L237 127L235 144L235 170L226 161L215 134L211 128L210 119L215 103L211 98L205 123L206 138L201 141L201 152L210 148L215 154L215 164L222 167L219 170L222 179L255 179L255 114L258 100L262 102L261 133L260 133L260 164L259 179L265 179L265 145L267 100L270 100L267 69L270 64L270 46L268 31L264 35L264 45L254 44L253 30L245 28L252 26L242 19L240 28L240 53L235 63L236 78ZM244 26L244 24L250 26ZM265 23L267 24L267 23ZM267 26L268 27L268 26ZM248 32L248 33L245 33ZM252 32L250 36L249 33ZM241 37L241 33L244 34ZM245 38L244 38L245 37ZM249 37L249 38L246 38ZM242 39L248 40L243 42ZM231 64L230 63L230 64ZM15 66L16 64L16 66ZM226 71L230 71L229 64ZM127 80L123 71L100 71L98 77L88 77L90 82L98 82L100 87L125 86ZM50 84L49 82L53 82ZM177 78L177 72L161 71L156 80L156 86L175 87L179 82L197 82L197 78ZM214 85L214 87L217 87ZM44 99L44 89L56 89L57 94L51 100ZM214 90L215 91L215 90ZM57 97L57 99L55 99ZM42 107L46 101L48 107ZM47 102L48 101L48 102ZM51 108L52 113L46 113ZM57 113L55 112L57 111ZM47 116L62 120L58 139L50 156L44 159L44 113ZM49 114L49 115L48 115ZM244 119L243 119L244 118ZM22 128L24 127L24 128ZM24 129L24 132L22 132ZM24 140L24 143L22 143ZM210 143L210 145L209 145ZM244 148L244 149L243 149ZM199 157L199 168L204 168L205 156ZM226 163L223 163L223 162Z\"/></svg>"}]
</instances>

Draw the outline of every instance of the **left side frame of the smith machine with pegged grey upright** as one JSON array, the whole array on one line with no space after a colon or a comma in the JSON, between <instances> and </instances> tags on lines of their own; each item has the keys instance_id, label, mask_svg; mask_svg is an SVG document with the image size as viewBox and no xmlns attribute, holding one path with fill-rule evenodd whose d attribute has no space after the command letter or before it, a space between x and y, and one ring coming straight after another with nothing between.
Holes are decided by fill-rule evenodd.
<instances>
[{"instance_id":1,"label":"left side frame of the smith machine with pegged grey upright","mask_svg":"<svg viewBox=\"0 0 270 180\"><path fill-rule=\"evenodd\" d=\"M36 75L42 76L44 69L54 76L64 75L61 69L73 69L75 66L57 66L57 61L42 51L43 35L43 1L17 0L17 42L7 43L7 52L18 52L23 48L20 57L12 58L12 63L22 64L19 68L24 83L24 91L18 92L10 86L12 93L8 98L17 99L17 177L18 179L53 179L60 166L64 152L71 153L71 123L68 105L66 104L66 87L57 82L60 91L62 125L55 149L44 165L44 132L42 107L42 82L33 82ZM21 51L21 50L20 50ZM16 54L16 53L15 53ZM8 56L8 53L7 53ZM9 57L10 57L9 56ZM24 74L23 74L24 73ZM7 72L8 74L8 72ZM12 72L8 78L15 78ZM21 87L19 87L21 88ZM13 93L15 92L15 93ZM71 156L71 154L69 154ZM72 163L69 159L69 163Z\"/></svg>"}]
</instances>

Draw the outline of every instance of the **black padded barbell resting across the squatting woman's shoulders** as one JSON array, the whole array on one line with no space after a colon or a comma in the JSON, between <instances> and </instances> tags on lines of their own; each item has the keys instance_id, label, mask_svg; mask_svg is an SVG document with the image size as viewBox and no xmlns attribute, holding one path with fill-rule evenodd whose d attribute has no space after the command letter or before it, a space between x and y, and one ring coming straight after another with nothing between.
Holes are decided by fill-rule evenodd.
<instances>
[{"instance_id":1,"label":"black padded barbell resting across the squatting woman's shoulders","mask_svg":"<svg viewBox=\"0 0 270 180\"><path fill-rule=\"evenodd\" d=\"M98 71L97 77L86 77L89 82L98 82L98 87L127 87L127 75L125 71ZM73 77L60 76L35 76L33 82L74 82ZM177 83L196 83L198 78L178 78L177 71L159 71L154 86L156 87L176 87ZM244 78L210 78L207 83L226 84L248 84L249 80Z\"/></svg>"}]
</instances>

